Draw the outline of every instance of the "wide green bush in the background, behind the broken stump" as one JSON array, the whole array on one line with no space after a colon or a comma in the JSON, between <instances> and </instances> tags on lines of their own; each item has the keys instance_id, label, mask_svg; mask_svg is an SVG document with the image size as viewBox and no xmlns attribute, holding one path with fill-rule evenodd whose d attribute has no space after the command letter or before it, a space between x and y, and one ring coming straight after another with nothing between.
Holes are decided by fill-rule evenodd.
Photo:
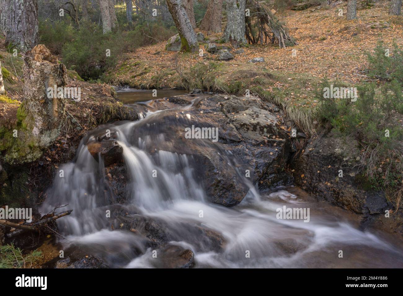
<instances>
[{"instance_id":1,"label":"wide green bush in the background, behind the broken stump","mask_svg":"<svg viewBox=\"0 0 403 296\"><path fill-rule=\"evenodd\" d=\"M123 22L123 16L119 19ZM130 27L120 25L108 34L102 34L102 28L88 20L82 21L80 27L77 29L62 21L41 21L40 34L41 42L53 54L61 55L66 67L75 70L84 80L102 79L103 73L116 64L121 54L166 40L176 33L161 21L137 23ZM110 56L106 56L107 50L110 50Z\"/></svg>"}]
</instances>

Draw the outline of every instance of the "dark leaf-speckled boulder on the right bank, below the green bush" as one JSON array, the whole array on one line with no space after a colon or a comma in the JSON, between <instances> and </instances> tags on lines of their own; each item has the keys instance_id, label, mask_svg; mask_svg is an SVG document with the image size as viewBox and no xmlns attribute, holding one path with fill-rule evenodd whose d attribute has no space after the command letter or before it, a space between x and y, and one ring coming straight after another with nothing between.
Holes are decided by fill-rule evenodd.
<instances>
[{"instance_id":1,"label":"dark leaf-speckled boulder on the right bank, below the green bush","mask_svg":"<svg viewBox=\"0 0 403 296\"><path fill-rule=\"evenodd\" d=\"M332 132L322 132L291 162L295 182L319 200L358 214L382 213L388 208L383 193L365 190L355 166L357 143L343 141ZM349 157L354 155L354 157ZM339 177L339 170L343 177ZM391 207L390 207L391 208Z\"/></svg>"}]
</instances>

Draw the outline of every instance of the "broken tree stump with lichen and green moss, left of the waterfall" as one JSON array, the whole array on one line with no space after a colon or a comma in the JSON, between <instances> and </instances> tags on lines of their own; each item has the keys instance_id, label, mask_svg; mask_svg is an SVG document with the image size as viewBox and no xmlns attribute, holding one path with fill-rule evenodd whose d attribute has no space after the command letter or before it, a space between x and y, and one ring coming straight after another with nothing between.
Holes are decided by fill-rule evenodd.
<instances>
[{"instance_id":1,"label":"broken tree stump with lichen and green moss, left of the waterfall","mask_svg":"<svg viewBox=\"0 0 403 296\"><path fill-rule=\"evenodd\" d=\"M42 150L59 136L64 118L65 99L57 97L57 93L48 95L48 88L66 85L66 67L57 61L42 60L40 52L34 49L35 55L24 57L24 95L17 110L17 122L0 130L0 150L6 150L3 158L9 164L39 158Z\"/></svg>"}]
</instances>

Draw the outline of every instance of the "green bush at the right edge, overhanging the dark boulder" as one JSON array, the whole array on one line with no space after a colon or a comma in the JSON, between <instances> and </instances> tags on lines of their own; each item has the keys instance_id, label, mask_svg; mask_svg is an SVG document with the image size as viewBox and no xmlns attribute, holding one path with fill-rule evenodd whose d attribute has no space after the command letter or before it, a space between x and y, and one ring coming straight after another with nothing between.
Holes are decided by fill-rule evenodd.
<instances>
[{"instance_id":1,"label":"green bush at the right edge, overhanging the dark boulder","mask_svg":"<svg viewBox=\"0 0 403 296\"><path fill-rule=\"evenodd\" d=\"M323 122L344 137L353 137L361 150L361 166L366 172L370 186L383 190L398 204L403 187L403 128L399 120L403 115L401 49L394 46L394 56L385 56L378 45L368 57L369 73L382 77L381 85L363 83L357 86L357 101L324 98L317 93L318 115ZM329 87L325 80L323 87ZM345 87L334 82L333 87ZM388 133L388 136L387 136Z\"/></svg>"}]
</instances>

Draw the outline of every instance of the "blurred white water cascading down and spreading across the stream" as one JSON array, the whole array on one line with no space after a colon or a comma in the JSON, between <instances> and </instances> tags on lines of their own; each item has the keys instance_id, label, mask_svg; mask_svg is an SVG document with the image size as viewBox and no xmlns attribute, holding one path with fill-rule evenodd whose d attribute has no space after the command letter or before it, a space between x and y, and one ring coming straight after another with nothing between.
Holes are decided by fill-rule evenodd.
<instances>
[{"instance_id":1,"label":"blurred white water cascading down and spreading across the stream","mask_svg":"<svg viewBox=\"0 0 403 296\"><path fill-rule=\"evenodd\" d=\"M58 219L64 248L86 250L110 267L158 266L153 257L158 246L150 246L136 232L112 229L120 220L106 217L110 210L124 213L126 220L141 216L158 221L169 233L169 244L193 251L194 267L403 267L403 249L393 243L394 237L359 230L357 215L318 202L297 187L259 193L250 185L235 207L209 202L193 157L159 149L167 135L158 135L158 125L176 124L161 122L163 112L98 127L81 141L74 161L60 167L64 177L56 176L42 213L64 204L74 209ZM144 126L157 136L143 133ZM127 199L121 204L110 194L104 164L87 149L87 143L106 129L123 147L128 177ZM236 163L219 143L211 145L217 145L229 166ZM277 219L276 209L283 206L309 208L309 222ZM219 236L222 246L209 243L200 229Z\"/></svg>"}]
</instances>

